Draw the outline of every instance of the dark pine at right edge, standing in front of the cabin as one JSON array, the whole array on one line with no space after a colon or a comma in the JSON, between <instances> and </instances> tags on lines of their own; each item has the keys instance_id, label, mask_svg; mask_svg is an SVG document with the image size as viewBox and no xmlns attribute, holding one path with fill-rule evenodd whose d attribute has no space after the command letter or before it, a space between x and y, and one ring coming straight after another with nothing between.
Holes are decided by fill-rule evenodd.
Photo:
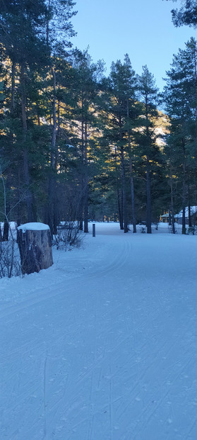
<instances>
[{"instance_id":1,"label":"dark pine at right edge, standing in front of the cabin","mask_svg":"<svg viewBox=\"0 0 197 440\"><path fill-rule=\"evenodd\" d=\"M166 110L170 118L170 161L181 191L183 210L182 233L186 232L185 208L196 188L193 171L196 169L196 40L186 43L185 50L174 55L172 68L167 72L165 87ZM196 191L196 190L195 190Z\"/></svg>"}]
</instances>

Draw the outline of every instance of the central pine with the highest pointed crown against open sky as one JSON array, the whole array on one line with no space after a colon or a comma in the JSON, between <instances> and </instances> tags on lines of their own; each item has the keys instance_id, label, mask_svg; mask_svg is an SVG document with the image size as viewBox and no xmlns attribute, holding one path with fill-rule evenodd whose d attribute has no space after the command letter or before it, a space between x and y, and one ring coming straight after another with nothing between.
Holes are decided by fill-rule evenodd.
<instances>
[{"instance_id":1,"label":"central pine with the highest pointed crown against open sky","mask_svg":"<svg viewBox=\"0 0 197 440\"><path fill-rule=\"evenodd\" d=\"M105 109L105 137L111 145L114 165L117 172L117 201L119 206L120 228L128 232L128 184L127 159L130 157L131 194L133 230L135 232L135 207L133 191L133 164L131 154L132 130L135 126L135 93L136 77L131 67L129 56L124 63L120 60L112 62L109 79L104 82L102 105ZM119 179L120 169L121 179ZM119 181L121 187L119 188Z\"/></svg>"}]
</instances>

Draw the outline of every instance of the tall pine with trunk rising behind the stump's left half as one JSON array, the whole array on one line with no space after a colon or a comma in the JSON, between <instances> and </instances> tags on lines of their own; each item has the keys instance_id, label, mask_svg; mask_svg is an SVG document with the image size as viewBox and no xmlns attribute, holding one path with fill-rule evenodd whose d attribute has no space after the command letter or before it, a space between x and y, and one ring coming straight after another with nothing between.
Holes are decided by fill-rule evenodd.
<instances>
[{"instance_id":1,"label":"tall pine with trunk rising behind the stump's left half","mask_svg":"<svg viewBox=\"0 0 197 440\"><path fill-rule=\"evenodd\" d=\"M18 118L20 124L21 135L18 134L18 140L20 137L20 156L23 161L23 167L22 164L20 166L20 174L24 176L27 218L31 221L33 220L33 201L30 189L28 93L30 76L32 77L32 72L35 72L37 65L42 62L42 54L44 60L45 45L42 28L47 10L43 0L38 0L36 6L28 0L1 1L0 6L1 56L6 57L6 62L11 64L11 106L9 111L11 118ZM17 115L15 113L16 74L18 74L19 81ZM16 135L16 133L13 134Z\"/></svg>"}]
</instances>

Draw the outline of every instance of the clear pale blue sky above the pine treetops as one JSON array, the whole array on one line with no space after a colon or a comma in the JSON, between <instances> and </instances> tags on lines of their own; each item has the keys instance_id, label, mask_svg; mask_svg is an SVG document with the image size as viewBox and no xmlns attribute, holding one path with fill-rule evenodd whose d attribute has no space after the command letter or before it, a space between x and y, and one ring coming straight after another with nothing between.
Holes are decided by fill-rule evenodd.
<instances>
[{"instance_id":1,"label":"clear pale blue sky above the pine treetops","mask_svg":"<svg viewBox=\"0 0 197 440\"><path fill-rule=\"evenodd\" d=\"M179 6L162 0L76 0L72 18L78 33L73 46L81 50L89 46L93 62L104 60L106 74L112 61L124 61L129 54L133 69L141 74L147 64L162 89L165 72L173 54L197 32L189 26L175 28L170 11Z\"/></svg>"}]
</instances>

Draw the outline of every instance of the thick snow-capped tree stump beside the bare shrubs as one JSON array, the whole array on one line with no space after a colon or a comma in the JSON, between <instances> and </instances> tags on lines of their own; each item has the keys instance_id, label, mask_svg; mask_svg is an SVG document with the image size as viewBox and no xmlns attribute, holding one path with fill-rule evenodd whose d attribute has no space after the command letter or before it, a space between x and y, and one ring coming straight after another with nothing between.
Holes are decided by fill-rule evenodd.
<instances>
[{"instance_id":1,"label":"thick snow-capped tree stump beside the bare shrubs","mask_svg":"<svg viewBox=\"0 0 197 440\"><path fill-rule=\"evenodd\" d=\"M23 274L52 266L52 239L48 225L37 222L19 226L17 242Z\"/></svg>"}]
</instances>

